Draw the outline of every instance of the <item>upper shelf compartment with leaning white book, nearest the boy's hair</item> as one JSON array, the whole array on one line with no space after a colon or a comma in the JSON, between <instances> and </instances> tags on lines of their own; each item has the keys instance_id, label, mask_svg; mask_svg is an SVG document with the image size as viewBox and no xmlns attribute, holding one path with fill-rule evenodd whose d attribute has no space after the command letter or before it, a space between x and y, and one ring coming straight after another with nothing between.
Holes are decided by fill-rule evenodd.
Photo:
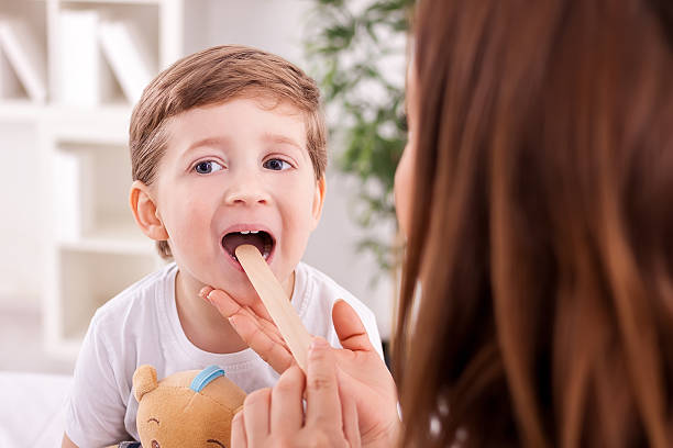
<instances>
[{"instance_id":1,"label":"upper shelf compartment with leaning white book, nearest the boy's hair","mask_svg":"<svg viewBox=\"0 0 673 448\"><path fill-rule=\"evenodd\" d=\"M59 103L135 103L158 72L157 2L63 1L55 20ZM76 72L71 67L78 67Z\"/></svg>"}]
</instances>

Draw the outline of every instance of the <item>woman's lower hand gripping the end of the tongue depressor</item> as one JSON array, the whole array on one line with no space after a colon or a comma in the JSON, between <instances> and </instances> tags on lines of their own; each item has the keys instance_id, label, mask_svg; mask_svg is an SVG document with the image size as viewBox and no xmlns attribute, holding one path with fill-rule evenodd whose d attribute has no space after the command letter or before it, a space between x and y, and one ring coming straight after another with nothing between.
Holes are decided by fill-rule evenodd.
<instances>
[{"instance_id":1,"label":"woman's lower hand gripping the end of the tongue depressor","mask_svg":"<svg viewBox=\"0 0 673 448\"><path fill-rule=\"evenodd\" d=\"M273 389L247 395L233 419L231 444L234 448L361 447L355 403L349 395L340 396L334 352L324 339L313 339L306 381L299 367L293 366Z\"/></svg>"}]
</instances>

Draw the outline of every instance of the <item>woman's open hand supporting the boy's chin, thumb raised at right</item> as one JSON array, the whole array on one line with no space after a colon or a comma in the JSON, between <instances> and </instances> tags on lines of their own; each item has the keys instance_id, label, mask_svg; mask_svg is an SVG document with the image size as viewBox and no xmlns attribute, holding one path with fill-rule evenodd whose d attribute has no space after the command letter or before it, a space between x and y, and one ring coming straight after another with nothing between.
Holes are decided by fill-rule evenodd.
<instances>
[{"instance_id":1,"label":"woman's open hand supporting the boy's chin, thumb raised at right","mask_svg":"<svg viewBox=\"0 0 673 448\"><path fill-rule=\"evenodd\" d=\"M294 358L265 310L242 307L230 295L211 288L207 298L255 350L276 371L283 373ZM262 306L263 309L263 306ZM397 436L397 390L355 311L344 301L332 309L334 329L343 349L332 349L342 395L353 397L363 446L389 447Z\"/></svg>"}]
</instances>

